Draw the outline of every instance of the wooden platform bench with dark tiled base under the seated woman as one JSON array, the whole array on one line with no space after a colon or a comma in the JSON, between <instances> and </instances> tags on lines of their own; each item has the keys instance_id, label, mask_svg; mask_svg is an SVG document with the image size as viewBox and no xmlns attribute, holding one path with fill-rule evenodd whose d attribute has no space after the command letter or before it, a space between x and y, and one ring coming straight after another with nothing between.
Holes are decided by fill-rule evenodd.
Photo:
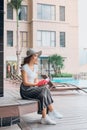
<instances>
[{"instance_id":1,"label":"wooden platform bench with dark tiled base under the seated woman","mask_svg":"<svg viewBox=\"0 0 87 130\"><path fill-rule=\"evenodd\" d=\"M9 91L9 90L8 90ZM12 91L8 92L10 95ZM7 93L7 90L6 90ZM24 114L38 111L38 101L23 100L20 96L5 96L0 98L0 127L18 124L23 130L26 123L20 118ZM29 126L28 126L29 129ZM27 130L27 129L26 129Z\"/></svg>"}]
</instances>

